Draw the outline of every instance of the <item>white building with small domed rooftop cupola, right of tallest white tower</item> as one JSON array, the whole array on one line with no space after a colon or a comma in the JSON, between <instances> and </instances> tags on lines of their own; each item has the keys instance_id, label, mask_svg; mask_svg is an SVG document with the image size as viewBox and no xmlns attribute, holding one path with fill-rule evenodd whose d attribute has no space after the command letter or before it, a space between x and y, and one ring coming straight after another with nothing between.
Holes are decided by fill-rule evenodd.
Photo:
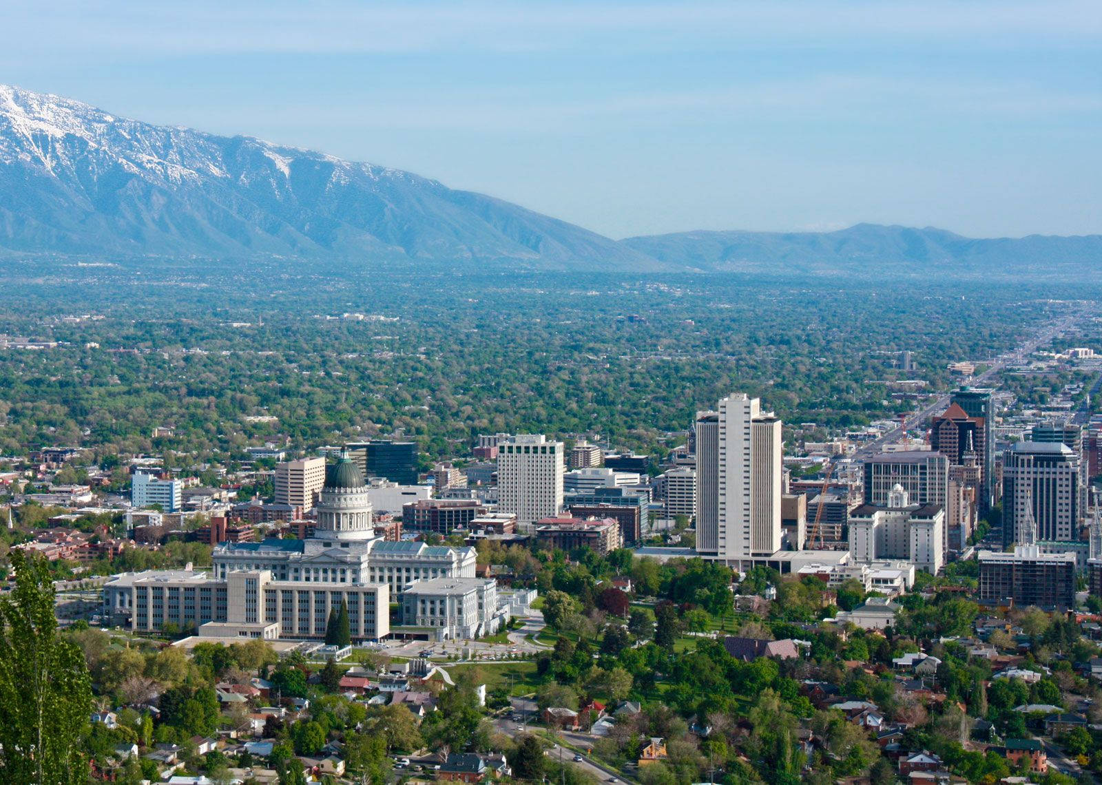
<instances>
[{"instance_id":1,"label":"white building with small domed rooftop cupola, right of tallest white tower","mask_svg":"<svg viewBox=\"0 0 1102 785\"><path fill-rule=\"evenodd\" d=\"M850 553L855 562L901 559L937 574L946 560L946 512L937 504L911 504L896 485L886 505L863 504L850 513Z\"/></svg>"}]
</instances>

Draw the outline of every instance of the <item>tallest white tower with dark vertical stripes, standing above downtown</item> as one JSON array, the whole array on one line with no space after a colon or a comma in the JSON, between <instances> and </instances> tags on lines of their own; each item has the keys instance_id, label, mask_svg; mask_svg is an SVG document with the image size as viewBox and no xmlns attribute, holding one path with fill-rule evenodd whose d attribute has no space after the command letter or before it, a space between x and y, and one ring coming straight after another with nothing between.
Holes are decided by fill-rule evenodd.
<instances>
[{"instance_id":1,"label":"tallest white tower with dark vertical stripes, standing above downtown","mask_svg":"<svg viewBox=\"0 0 1102 785\"><path fill-rule=\"evenodd\" d=\"M748 561L780 550L781 423L745 394L696 416L696 550Z\"/></svg>"}]
</instances>

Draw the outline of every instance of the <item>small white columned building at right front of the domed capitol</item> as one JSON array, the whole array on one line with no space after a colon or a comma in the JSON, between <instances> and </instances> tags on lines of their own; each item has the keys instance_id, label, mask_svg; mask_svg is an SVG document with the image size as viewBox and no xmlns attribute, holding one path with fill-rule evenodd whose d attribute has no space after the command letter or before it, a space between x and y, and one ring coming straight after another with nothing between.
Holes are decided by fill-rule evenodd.
<instances>
[{"instance_id":1,"label":"small white columned building at right front of the domed capitol","mask_svg":"<svg viewBox=\"0 0 1102 785\"><path fill-rule=\"evenodd\" d=\"M433 641L493 635L509 621L498 610L497 582L482 578L434 578L402 594L402 625L430 627Z\"/></svg>"}]
</instances>

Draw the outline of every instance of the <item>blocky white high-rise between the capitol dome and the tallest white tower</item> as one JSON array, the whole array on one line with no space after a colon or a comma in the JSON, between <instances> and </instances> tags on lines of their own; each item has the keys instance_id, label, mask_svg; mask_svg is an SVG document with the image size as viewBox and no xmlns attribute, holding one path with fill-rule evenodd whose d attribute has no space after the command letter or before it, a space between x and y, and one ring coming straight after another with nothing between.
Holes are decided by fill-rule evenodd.
<instances>
[{"instance_id":1,"label":"blocky white high-rise between the capitol dome and the tallest white tower","mask_svg":"<svg viewBox=\"0 0 1102 785\"><path fill-rule=\"evenodd\" d=\"M515 435L498 445L497 486L499 513L517 516L530 527L562 509L563 444L542 433Z\"/></svg>"}]
</instances>

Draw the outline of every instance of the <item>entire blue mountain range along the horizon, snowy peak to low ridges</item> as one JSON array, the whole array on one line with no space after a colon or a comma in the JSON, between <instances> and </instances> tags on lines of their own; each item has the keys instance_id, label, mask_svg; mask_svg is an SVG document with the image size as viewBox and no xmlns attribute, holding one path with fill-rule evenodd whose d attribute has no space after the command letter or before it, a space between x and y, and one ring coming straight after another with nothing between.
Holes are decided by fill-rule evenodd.
<instances>
[{"instance_id":1,"label":"entire blue mountain range along the horizon, snowy peak to low ridges","mask_svg":"<svg viewBox=\"0 0 1102 785\"><path fill-rule=\"evenodd\" d=\"M982 273L1096 265L1102 236L971 239L860 224L614 240L409 172L154 126L0 85L0 249L547 270Z\"/></svg>"}]
</instances>

